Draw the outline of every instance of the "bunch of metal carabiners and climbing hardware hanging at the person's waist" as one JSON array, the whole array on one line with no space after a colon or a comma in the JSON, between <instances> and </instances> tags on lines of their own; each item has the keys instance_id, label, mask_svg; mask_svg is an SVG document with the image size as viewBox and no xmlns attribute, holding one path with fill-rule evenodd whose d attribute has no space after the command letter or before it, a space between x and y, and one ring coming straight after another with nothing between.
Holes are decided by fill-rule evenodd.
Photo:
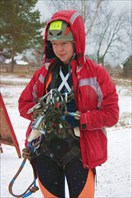
<instances>
[{"instance_id":1,"label":"bunch of metal carabiners and climbing hardware hanging at the person's waist","mask_svg":"<svg viewBox=\"0 0 132 198\"><path fill-rule=\"evenodd\" d=\"M66 130L70 125L65 120L65 116L77 116L74 112L67 112L66 104L74 97L74 93L61 93L57 89L52 89L43 96L39 103L28 110L27 113L41 109L39 116L32 123L32 131L28 141L32 141L44 134L45 139L52 139L54 136L66 138Z\"/></svg>"}]
</instances>

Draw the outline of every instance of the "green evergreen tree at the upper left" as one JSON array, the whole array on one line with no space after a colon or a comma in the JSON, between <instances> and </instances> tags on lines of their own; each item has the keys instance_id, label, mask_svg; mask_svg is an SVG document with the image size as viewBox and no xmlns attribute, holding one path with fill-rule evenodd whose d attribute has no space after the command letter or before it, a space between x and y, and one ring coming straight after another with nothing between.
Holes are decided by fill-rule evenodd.
<instances>
[{"instance_id":1,"label":"green evergreen tree at the upper left","mask_svg":"<svg viewBox=\"0 0 132 198\"><path fill-rule=\"evenodd\" d=\"M0 50L11 58L11 71L14 71L14 56L26 49L42 45L40 12L35 10L38 0L0 1Z\"/></svg>"}]
</instances>

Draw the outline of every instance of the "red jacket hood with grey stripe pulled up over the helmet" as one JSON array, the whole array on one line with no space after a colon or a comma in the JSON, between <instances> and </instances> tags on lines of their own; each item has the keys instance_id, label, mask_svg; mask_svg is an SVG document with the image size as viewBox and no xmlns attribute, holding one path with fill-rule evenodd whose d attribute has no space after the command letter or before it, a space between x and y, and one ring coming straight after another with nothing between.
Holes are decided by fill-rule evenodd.
<instances>
[{"instance_id":1,"label":"red jacket hood with grey stripe pulled up over the helmet","mask_svg":"<svg viewBox=\"0 0 132 198\"><path fill-rule=\"evenodd\" d=\"M84 63L84 53L85 53L85 29L84 29L84 22L76 10L61 10L56 12L52 18L47 22L46 29L45 29L45 37L44 37L44 54L45 54L45 61L50 58L53 58L54 52L52 50L51 43L47 41L48 35L48 28L49 24L52 21L62 20L67 22L70 25L74 42L75 42L75 49L76 49L76 57L78 61L78 65L82 65Z\"/></svg>"}]
</instances>

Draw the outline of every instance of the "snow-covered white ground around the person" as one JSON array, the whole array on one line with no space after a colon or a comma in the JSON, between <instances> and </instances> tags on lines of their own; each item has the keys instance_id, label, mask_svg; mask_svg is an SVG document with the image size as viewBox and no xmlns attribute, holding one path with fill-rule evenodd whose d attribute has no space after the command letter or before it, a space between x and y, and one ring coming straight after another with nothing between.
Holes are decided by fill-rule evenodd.
<instances>
[{"instance_id":1,"label":"snow-covered white ground around the person","mask_svg":"<svg viewBox=\"0 0 132 198\"><path fill-rule=\"evenodd\" d=\"M20 149L24 147L25 131L29 121L19 116L17 100L28 83L29 78L19 78L12 75L1 75L1 93L11 119ZM97 168L97 184L95 198L131 198L131 86L130 81L118 80L120 120L108 129L108 161ZM22 159L19 159L15 147L2 145L0 197L12 197L8 192L8 185L16 174ZM21 194L32 182L32 169L26 163L22 174L14 185L14 193ZM42 198L37 191L31 197ZM66 197L68 189L66 185Z\"/></svg>"}]
</instances>

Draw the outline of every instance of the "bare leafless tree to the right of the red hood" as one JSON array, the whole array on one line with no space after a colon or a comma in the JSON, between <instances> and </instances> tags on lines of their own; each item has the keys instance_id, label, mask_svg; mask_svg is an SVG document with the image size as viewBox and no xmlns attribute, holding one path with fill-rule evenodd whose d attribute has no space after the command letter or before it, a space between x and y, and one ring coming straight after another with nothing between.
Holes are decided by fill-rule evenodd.
<instances>
[{"instance_id":1,"label":"bare leafless tree to the right of the red hood","mask_svg":"<svg viewBox=\"0 0 132 198\"><path fill-rule=\"evenodd\" d=\"M107 14L106 14L107 13ZM126 11L121 11L118 15L110 10L105 14L101 13L99 20L101 25L98 24L94 38L96 40L96 58L99 63L104 65L106 57L118 57L120 48L126 48L126 28L128 22L126 21Z\"/></svg>"}]
</instances>

